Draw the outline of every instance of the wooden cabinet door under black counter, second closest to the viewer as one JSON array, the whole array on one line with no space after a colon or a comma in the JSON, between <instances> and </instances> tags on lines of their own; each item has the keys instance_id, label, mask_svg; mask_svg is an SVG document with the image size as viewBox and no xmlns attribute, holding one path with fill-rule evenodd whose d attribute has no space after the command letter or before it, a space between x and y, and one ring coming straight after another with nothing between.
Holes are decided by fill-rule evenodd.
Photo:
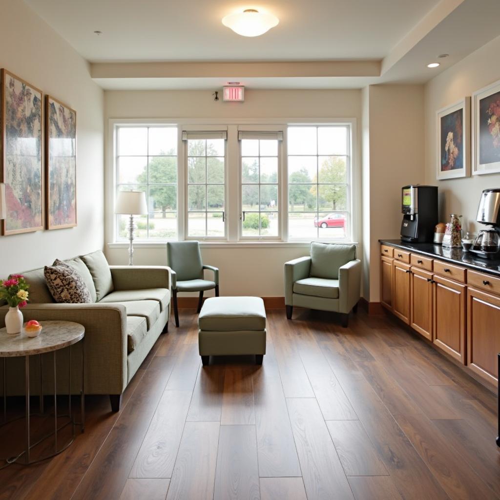
<instances>
[{"instance_id":1,"label":"wooden cabinet door under black counter, second closest to the viewer","mask_svg":"<svg viewBox=\"0 0 500 500\"><path fill-rule=\"evenodd\" d=\"M434 343L465 364L465 285L434 274Z\"/></svg>"}]
</instances>

